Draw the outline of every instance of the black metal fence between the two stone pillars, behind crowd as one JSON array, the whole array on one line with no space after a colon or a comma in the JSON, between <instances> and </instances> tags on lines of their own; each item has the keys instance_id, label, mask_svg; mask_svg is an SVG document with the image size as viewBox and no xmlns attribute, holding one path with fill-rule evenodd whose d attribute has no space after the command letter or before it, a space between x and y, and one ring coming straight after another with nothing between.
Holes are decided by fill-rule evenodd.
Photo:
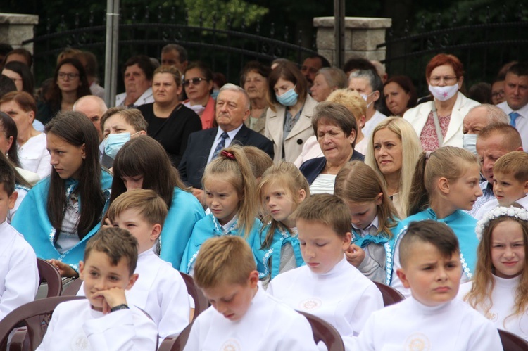
<instances>
[{"instance_id":1,"label":"black metal fence between the two stone pillars, behind crowd","mask_svg":"<svg viewBox=\"0 0 528 351\"><path fill-rule=\"evenodd\" d=\"M182 18L176 8L159 8L152 14L148 7L142 11L130 8L120 13L118 61L124 63L139 53L159 58L165 44L175 43L187 49L189 60L203 60L213 72L222 72L230 82L238 82L239 72L249 60L270 63L284 57L301 62L304 56L316 52L315 48L301 46L302 33L290 32L288 27L275 28L274 23L246 27L242 21L235 28L231 18L221 19L222 23L227 23L223 28L217 28L215 18L212 27L204 27L201 19L198 25L190 25L187 11L184 13ZM34 38L23 42L34 44L37 82L53 75L58 53L68 47L92 51L100 63L99 77L103 77L106 13L91 12L86 23L82 23L82 17L77 13L73 21L62 16L55 22L47 18L45 25L37 27ZM261 27L265 27L266 32ZM120 78L118 83L122 84ZM122 86L118 87L122 91Z\"/></svg>"}]
</instances>

